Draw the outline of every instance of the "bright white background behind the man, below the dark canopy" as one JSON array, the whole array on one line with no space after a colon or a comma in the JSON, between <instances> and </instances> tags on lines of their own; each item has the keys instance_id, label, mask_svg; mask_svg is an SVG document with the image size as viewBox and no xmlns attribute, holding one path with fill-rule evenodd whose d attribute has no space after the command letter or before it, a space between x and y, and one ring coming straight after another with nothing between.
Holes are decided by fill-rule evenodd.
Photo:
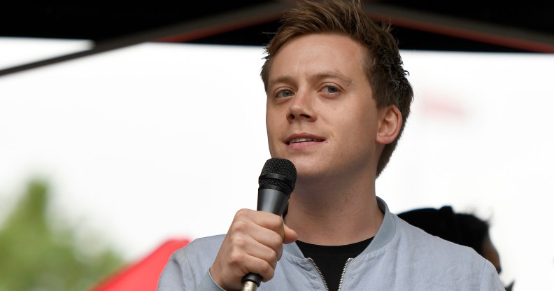
<instances>
[{"instance_id":1,"label":"bright white background behind the man, below the dark canopy","mask_svg":"<svg viewBox=\"0 0 554 291\"><path fill-rule=\"evenodd\" d=\"M0 38L0 68L87 45L13 41ZM504 283L554 290L554 56L402 55L415 101L378 195L395 213L448 204L490 218ZM145 43L0 77L0 220L41 176L57 215L129 260L226 232L256 207L269 158L262 57Z\"/></svg>"}]
</instances>

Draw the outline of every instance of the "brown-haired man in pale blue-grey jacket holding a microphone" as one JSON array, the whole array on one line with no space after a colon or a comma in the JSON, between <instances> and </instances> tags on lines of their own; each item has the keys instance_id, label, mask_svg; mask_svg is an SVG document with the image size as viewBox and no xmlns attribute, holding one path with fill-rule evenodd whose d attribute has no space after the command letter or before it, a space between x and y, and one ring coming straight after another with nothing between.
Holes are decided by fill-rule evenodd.
<instances>
[{"instance_id":1,"label":"brown-haired man in pale blue-grey jacket holding a microphone","mask_svg":"<svg viewBox=\"0 0 554 291\"><path fill-rule=\"evenodd\" d=\"M238 211L226 235L174 253L159 290L241 290L250 272L260 291L503 289L474 250L376 197L413 98L389 30L360 1L302 2L285 15L262 80L271 157L297 168L287 213Z\"/></svg>"}]
</instances>

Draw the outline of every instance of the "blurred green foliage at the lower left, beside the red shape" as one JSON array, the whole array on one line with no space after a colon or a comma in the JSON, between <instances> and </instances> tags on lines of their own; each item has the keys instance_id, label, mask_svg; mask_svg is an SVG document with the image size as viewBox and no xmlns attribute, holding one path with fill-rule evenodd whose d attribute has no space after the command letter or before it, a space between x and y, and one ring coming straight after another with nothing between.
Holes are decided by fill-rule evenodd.
<instances>
[{"instance_id":1,"label":"blurred green foliage at the lower left, beside the red shape","mask_svg":"<svg viewBox=\"0 0 554 291\"><path fill-rule=\"evenodd\" d=\"M47 184L31 181L0 229L0 291L87 290L125 263L107 247L90 253L48 213Z\"/></svg>"}]
</instances>

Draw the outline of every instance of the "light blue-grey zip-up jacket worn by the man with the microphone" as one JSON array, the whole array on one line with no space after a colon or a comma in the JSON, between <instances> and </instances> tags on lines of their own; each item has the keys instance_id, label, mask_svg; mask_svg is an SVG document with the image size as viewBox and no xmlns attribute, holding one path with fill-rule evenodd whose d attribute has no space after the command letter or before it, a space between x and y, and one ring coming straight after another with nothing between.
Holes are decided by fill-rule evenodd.
<instances>
[{"instance_id":1,"label":"light blue-grey zip-up jacket worn by the man with the microphone","mask_svg":"<svg viewBox=\"0 0 554 291\"><path fill-rule=\"evenodd\" d=\"M472 248L431 236L390 213L382 199L378 204L385 213L383 224L369 246L346 263L340 290L504 291L495 267ZM208 269L224 237L196 239L173 253L158 291L221 291ZM317 267L296 243L283 248L274 278L258 291L327 290Z\"/></svg>"}]
</instances>

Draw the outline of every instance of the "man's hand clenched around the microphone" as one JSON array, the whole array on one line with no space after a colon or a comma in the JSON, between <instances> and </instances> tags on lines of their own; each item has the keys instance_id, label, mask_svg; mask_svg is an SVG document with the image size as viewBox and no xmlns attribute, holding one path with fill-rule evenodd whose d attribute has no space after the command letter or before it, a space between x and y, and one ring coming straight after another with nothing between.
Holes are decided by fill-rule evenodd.
<instances>
[{"instance_id":1,"label":"man's hand clenched around the microphone","mask_svg":"<svg viewBox=\"0 0 554 291\"><path fill-rule=\"evenodd\" d=\"M279 215L241 209L235 214L210 274L225 290L241 290L242 278L248 273L259 274L262 282L267 282L283 255L283 243L296 239L297 233L284 225Z\"/></svg>"}]
</instances>

